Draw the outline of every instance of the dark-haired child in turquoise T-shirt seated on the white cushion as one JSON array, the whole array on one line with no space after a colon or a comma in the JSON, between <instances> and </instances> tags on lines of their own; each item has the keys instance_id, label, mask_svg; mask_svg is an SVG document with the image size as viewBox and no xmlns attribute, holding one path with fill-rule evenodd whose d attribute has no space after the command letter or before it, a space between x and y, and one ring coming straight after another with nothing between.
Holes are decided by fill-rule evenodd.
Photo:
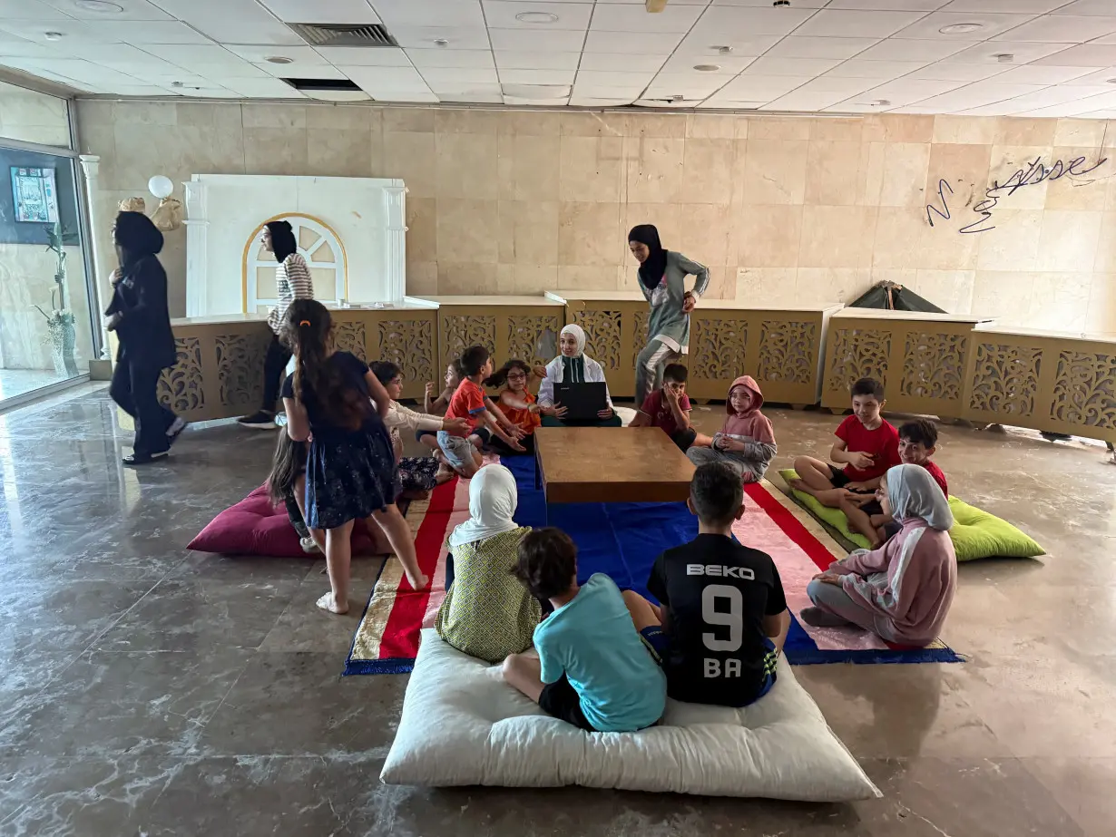
<instances>
[{"instance_id":1,"label":"dark-haired child in turquoise T-shirt seated on the white cushion","mask_svg":"<svg viewBox=\"0 0 1116 837\"><path fill-rule=\"evenodd\" d=\"M632 625L619 588L596 573L577 584L577 547L559 529L519 542L516 575L550 614L535 647L503 661L503 679L546 712L589 732L651 727L666 706L666 681Z\"/></svg>"}]
</instances>

